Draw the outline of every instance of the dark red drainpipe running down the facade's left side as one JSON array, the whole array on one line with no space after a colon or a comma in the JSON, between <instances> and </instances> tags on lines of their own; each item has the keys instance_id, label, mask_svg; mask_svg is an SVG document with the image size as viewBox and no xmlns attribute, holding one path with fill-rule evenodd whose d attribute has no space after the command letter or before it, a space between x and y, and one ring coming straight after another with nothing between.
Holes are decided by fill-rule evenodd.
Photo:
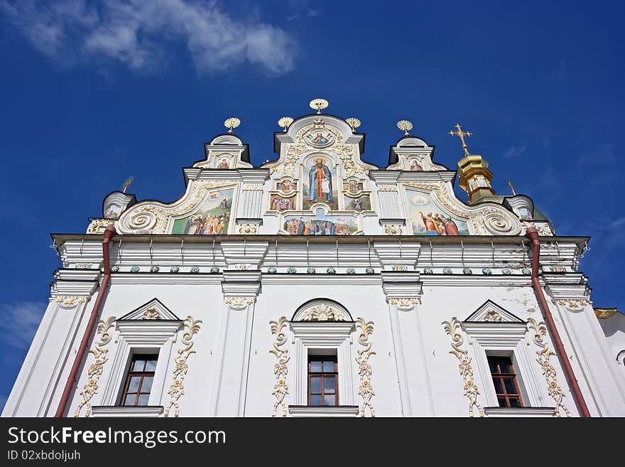
<instances>
[{"instance_id":1,"label":"dark red drainpipe running down the facade's left side","mask_svg":"<svg viewBox=\"0 0 625 467\"><path fill-rule=\"evenodd\" d=\"M93 305L93 309L91 311L91 316L89 316L89 323L87 323L87 329L85 329L85 334L82 336L82 340L80 341L80 347L78 348L78 352L76 353L76 358L74 359L74 365L72 365L72 370L70 371L70 375L67 377L67 382L65 382L65 389L63 390L63 394L61 396L61 400L59 402L58 409L56 409L55 417L63 417L65 415L65 408L67 407L67 401L70 399L70 394L74 389L74 385L76 383L76 377L78 375L78 370L80 370L80 365L82 365L82 359L85 357L85 351L87 350L87 345L89 345L89 340L91 340L91 335L93 333L93 328L95 327L95 323L98 319L100 308L102 308L102 302L104 301L104 295L107 292L107 287L109 286L109 281L111 280L111 260L109 259L109 242L116 234L115 227L109 225L106 229L104 229L104 240L102 240L102 257L104 258L104 278L102 279L102 285L100 285L99 293L95 304Z\"/></svg>"}]
</instances>

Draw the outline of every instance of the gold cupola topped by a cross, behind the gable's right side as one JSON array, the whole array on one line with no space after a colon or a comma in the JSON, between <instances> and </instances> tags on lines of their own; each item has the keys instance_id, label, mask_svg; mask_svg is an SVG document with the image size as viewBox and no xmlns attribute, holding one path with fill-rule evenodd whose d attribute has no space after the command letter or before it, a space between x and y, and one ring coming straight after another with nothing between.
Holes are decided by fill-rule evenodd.
<instances>
[{"instance_id":1,"label":"gold cupola topped by a cross, behind the gable's right side","mask_svg":"<svg viewBox=\"0 0 625 467\"><path fill-rule=\"evenodd\" d=\"M452 136L460 136L464 157L458 161L459 185L469 193L469 204L477 203L495 194L491 187L493 173L488 169L488 162L479 154L469 154L464 136L471 136L469 131L462 131L460 124L456 124L456 131L450 131Z\"/></svg>"}]
</instances>

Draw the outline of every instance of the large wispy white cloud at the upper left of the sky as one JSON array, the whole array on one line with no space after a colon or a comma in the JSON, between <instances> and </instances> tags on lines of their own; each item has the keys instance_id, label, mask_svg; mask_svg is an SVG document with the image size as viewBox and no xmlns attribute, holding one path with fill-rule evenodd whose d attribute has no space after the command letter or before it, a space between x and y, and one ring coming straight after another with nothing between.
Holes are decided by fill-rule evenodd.
<instances>
[{"instance_id":1,"label":"large wispy white cloud at the upper left of the sky","mask_svg":"<svg viewBox=\"0 0 625 467\"><path fill-rule=\"evenodd\" d=\"M294 66L288 33L257 18L233 18L215 1L0 0L0 11L60 63L107 58L153 71L163 65L169 45L183 43L200 73L251 63L280 74Z\"/></svg>"}]
</instances>

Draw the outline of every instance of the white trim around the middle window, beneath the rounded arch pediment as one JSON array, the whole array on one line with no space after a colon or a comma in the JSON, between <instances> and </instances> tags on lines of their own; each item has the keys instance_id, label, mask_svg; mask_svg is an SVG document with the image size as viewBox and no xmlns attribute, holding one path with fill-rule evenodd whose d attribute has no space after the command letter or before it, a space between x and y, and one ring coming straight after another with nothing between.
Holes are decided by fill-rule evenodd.
<instances>
[{"instance_id":1,"label":"white trim around the middle window, beneath the rounded arch pediment","mask_svg":"<svg viewBox=\"0 0 625 467\"><path fill-rule=\"evenodd\" d=\"M354 363L352 333L356 331L353 321L291 321L295 345L295 383L293 408L308 407L308 350L330 349L337 352L339 374L339 407L356 405L354 394ZM290 411L289 406L289 411ZM300 411L301 412L301 411ZM318 415L315 415L318 416Z\"/></svg>"}]
</instances>

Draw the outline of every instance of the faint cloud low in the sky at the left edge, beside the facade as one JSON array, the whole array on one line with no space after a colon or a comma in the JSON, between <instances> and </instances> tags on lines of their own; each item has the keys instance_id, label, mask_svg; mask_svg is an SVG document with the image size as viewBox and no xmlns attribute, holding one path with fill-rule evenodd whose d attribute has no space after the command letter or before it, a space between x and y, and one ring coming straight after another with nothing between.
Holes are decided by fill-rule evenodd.
<instances>
[{"instance_id":1,"label":"faint cloud low in the sky at the left edge, beside the facade","mask_svg":"<svg viewBox=\"0 0 625 467\"><path fill-rule=\"evenodd\" d=\"M12 347L26 349L31 345L45 311L45 304L36 301L19 301L2 304L0 337Z\"/></svg>"}]
</instances>

